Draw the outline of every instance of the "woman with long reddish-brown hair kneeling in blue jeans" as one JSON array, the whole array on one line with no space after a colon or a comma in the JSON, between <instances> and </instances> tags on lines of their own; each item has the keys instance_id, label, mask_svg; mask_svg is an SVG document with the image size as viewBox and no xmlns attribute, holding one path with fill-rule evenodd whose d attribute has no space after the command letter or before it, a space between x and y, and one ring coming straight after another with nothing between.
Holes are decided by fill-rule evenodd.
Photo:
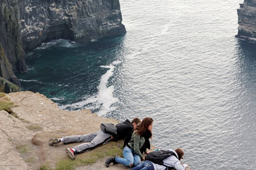
<instances>
[{"instance_id":1,"label":"woman with long reddish-brown hair kneeling in blue jeans","mask_svg":"<svg viewBox=\"0 0 256 170\"><path fill-rule=\"evenodd\" d=\"M150 149L149 139L152 138L153 119L145 117L133 132L130 142L123 149L123 158L118 156L107 158L105 165L109 167L110 163L121 163L132 167L145 160L143 153L148 154L147 149Z\"/></svg>"}]
</instances>

